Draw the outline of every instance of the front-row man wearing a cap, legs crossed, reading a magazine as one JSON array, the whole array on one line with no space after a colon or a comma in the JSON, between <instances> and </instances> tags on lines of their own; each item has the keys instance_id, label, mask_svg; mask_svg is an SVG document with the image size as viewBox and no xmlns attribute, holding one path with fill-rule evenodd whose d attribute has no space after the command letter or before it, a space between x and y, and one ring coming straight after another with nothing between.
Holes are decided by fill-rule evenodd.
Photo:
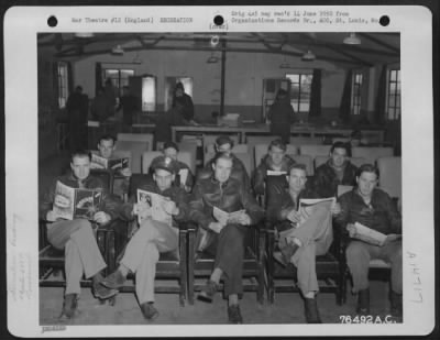
<instances>
[{"instance_id":1,"label":"front-row man wearing a cap, legs crossed, reading a magazine","mask_svg":"<svg viewBox=\"0 0 440 340\"><path fill-rule=\"evenodd\" d=\"M129 271L135 273L136 296L147 320L158 316L154 306L154 277L160 253L178 249L178 222L185 220L188 212L186 191L172 185L176 171L177 164L172 158L161 156L155 162L153 177L145 175L145 180L134 190L164 196L165 200L161 204L165 220L158 220L148 202L141 199L135 204L136 194L123 205L122 217L128 220L140 217L140 228L130 239L118 270L101 282L106 287L120 288Z\"/></svg>"}]
</instances>

